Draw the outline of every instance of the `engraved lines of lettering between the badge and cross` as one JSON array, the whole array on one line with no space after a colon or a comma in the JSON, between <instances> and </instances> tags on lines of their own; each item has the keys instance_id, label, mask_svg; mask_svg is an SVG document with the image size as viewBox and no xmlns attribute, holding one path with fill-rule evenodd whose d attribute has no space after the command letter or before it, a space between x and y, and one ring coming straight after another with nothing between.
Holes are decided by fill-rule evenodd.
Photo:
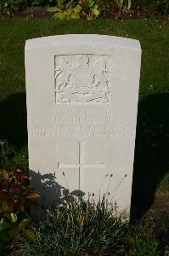
<instances>
[{"instance_id":1,"label":"engraved lines of lettering between the badge and cross","mask_svg":"<svg viewBox=\"0 0 169 256\"><path fill-rule=\"evenodd\" d=\"M134 129L129 123L114 124L111 108L58 109L53 125L40 123L31 127L33 137L131 137Z\"/></svg>"}]
</instances>

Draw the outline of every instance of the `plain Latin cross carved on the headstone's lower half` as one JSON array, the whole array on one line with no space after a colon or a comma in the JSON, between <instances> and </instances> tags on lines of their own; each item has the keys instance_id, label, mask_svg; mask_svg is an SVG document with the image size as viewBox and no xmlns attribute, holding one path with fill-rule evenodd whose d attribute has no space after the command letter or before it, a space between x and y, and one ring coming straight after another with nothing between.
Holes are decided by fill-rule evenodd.
<instances>
[{"instance_id":1,"label":"plain Latin cross carved on the headstone's lower half","mask_svg":"<svg viewBox=\"0 0 169 256\"><path fill-rule=\"evenodd\" d=\"M83 188L81 188L81 181L83 180L84 177L84 171L86 168L101 168L104 169L105 168L105 164L104 163L99 163L99 164L87 164L85 163L85 158L84 158L84 153L85 153L85 145L86 142L82 142L82 143L78 143L78 163L76 164L62 164L58 162L58 169L60 168L78 168L79 169L79 180L78 180L78 189L82 190Z\"/></svg>"}]
</instances>

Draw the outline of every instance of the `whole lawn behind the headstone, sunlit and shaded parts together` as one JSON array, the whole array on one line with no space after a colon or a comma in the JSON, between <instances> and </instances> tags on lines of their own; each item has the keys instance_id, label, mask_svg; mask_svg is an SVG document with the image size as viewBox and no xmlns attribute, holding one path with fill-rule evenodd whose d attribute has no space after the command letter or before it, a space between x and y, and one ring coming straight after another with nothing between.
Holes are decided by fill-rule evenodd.
<instances>
[{"instance_id":1,"label":"whole lawn behind the headstone, sunlit and shaded parts together","mask_svg":"<svg viewBox=\"0 0 169 256\"><path fill-rule=\"evenodd\" d=\"M7 139L16 147L18 158L16 157L15 161L25 159L27 143L25 40L69 33L96 33L135 38L141 43L143 55L132 208L135 211L138 203L140 207L143 201L144 212L153 201L156 190L169 191L168 23L161 19L0 20L0 138Z\"/></svg>"}]
</instances>

